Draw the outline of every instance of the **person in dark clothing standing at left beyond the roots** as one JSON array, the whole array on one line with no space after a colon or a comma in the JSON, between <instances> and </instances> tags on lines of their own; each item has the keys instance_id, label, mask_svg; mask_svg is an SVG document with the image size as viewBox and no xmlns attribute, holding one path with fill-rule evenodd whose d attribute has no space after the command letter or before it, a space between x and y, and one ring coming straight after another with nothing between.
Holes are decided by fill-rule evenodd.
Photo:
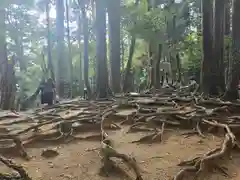
<instances>
[{"instance_id":1,"label":"person in dark clothing standing at left beyond the roots","mask_svg":"<svg viewBox=\"0 0 240 180\"><path fill-rule=\"evenodd\" d=\"M47 82L42 81L41 87L41 104L53 105L55 85L51 78Z\"/></svg>"}]
</instances>

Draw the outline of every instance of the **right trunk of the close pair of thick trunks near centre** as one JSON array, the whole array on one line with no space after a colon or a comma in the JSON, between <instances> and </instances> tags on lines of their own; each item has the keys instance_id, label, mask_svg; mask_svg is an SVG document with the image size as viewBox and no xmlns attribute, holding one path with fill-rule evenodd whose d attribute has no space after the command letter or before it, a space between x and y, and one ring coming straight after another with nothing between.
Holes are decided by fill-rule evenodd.
<instances>
[{"instance_id":1,"label":"right trunk of the close pair of thick trunks near centre","mask_svg":"<svg viewBox=\"0 0 240 180\"><path fill-rule=\"evenodd\" d=\"M119 93L121 82L120 0L108 0L107 2L112 90L114 93Z\"/></svg>"}]
</instances>

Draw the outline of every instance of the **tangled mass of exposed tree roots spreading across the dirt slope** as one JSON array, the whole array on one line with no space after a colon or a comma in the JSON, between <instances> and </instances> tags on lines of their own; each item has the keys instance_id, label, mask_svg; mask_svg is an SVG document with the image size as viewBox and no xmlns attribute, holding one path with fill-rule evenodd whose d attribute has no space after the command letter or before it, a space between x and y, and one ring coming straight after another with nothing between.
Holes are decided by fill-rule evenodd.
<instances>
[{"instance_id":1,"label":"tangled mass of exposed tree roots spreading across the dirt slope","mask_svg":"<svg viewBox=\"0 0 240 180\"><path fill-rule=\"evenodd\" d=\"M9 117L11 121L5 122L2 119L1 130L6 135L0 135L0 139L10 139L16 145L7 147L6 143L4 147L5 142L1 141L3 148L0 152L3 149L8 151L15 148L19 155L28 158L24 148L34 146L38 142L48 144L48 142L69 143L78 140L101 141L105 167L110 163L111 157L117 157L132 167L138 179L142 179L134 158L113 149L114 142L107 131L121 129L120 125L128 125L128 132L151 133L134 143L159 143L163 140L165 125L174 130L178 128L189 131L185 133L187 136L198 135L201 138L205 138L207 134L216 133L210 129L220 129L226 133L222 147L202 157L180 163L180 166L188 167L182 169L174 180L181 180L189 174L201 178L200 176L204 176L206 170L216 170L228 176L226 168L220 166L218 162L220 159L227 158L233 148L240 149L235 137L240 134L240 116L234 114L239 111L239 107L238 103L224 102L219 99L203 99L202 95L197 95L196 92L178 92L173 88L154 90L154 94L150 91L148 94L129 93L127 96L116 97L111 101L89 102L75 99L45 107L23 117L18 115L16 119L13 119L15 116ZM118 122L121 120L120 125L116 123L116 119ZM20 123L30 124L30 127L13 132L5 128ZM96 134L84 135L86 132ZM223 134L223 132L217 133Z\"/></svg>"}]
</instances>

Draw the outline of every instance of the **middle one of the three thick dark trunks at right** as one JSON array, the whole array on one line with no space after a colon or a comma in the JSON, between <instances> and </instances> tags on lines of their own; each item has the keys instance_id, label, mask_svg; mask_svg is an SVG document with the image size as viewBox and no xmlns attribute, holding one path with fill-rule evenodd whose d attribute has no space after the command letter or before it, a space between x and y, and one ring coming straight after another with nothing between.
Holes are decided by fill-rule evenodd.
<instances>
[{"instance_id":1,"label":"middle one of the three thick dark trunks at right","mask_svg":"<svg viewBox=\"0 0 240 180\"><path fill-rule=\"evenodd\" d=\"M214 11L214 67L218 78L216 86L221 92L225 91L224 81L224 4L225 1L215 0Z\"/></svg>"}]
</instances>

